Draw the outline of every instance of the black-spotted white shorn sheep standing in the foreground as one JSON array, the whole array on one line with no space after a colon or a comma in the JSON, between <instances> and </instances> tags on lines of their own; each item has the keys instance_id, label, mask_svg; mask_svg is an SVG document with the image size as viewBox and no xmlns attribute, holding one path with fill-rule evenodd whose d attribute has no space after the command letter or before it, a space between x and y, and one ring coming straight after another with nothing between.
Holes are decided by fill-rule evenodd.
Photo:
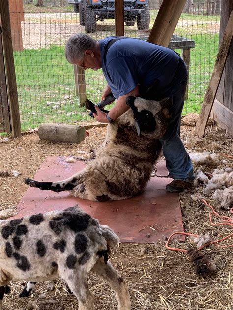
<instances>
[{"instance_id":1,"label":"black-spotted white shorn sheep standing in the foreground","mask_svg":"<svg viewBox=\"0 0 233 310\"><path fill-rule=\"evenodd\" d=\"M0 221L0 309L10 281L63 280L79 300L79 310L91 309L89 271L115 290L119 310L130 309L125 281L108 261L118 236L76 205L64 211ZM33 284L33 283L32 283Z\"/></svg>"}]
</instances>

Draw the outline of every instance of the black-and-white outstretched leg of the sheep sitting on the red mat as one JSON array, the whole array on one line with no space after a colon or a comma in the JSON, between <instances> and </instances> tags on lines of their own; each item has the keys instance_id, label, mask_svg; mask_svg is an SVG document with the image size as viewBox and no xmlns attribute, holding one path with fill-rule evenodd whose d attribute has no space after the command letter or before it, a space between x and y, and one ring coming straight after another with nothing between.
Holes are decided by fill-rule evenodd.
<instances>
[{"instance_id":1,"label":"black-and-white outstretched leg of the sheep sitting on the red mat","mask_svg":"<svg viewBox=\"0 0 233 310\"><path fill-rule=\"evenodd\" d=\"M58 182L39 182L29 178L24 179L24 183L30 185L31 187L37 187L41 190L50 190L54 192L62 192L65 190L72 190L75 186L79 185L80 178L82 177L84 170L76 173L69 177L68 179L58 181Z\"/></svg>"}]
</instances>

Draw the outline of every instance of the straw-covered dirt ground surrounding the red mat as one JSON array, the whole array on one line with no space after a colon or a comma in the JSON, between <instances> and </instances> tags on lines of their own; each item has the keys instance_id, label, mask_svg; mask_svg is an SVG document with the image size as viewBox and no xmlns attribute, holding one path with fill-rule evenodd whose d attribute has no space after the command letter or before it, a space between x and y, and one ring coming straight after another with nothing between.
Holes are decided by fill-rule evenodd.
<instances>
[{"instance_id":1,"label":"straw-covered dirt ground surrounding the red mat","mask_svg":"<svg viewBox=\"0 0 233 310\"><path fill-rule=\"evenodd\" d=\"M80 144L40 141L37 133L0 143L0 171L16 170L22 173L18 177L0 177L0 209L15 212L15 206L28 188L22 177L33 177L47 156L75 156L80 150L97 148L104 140L106 128L92 128L88 131L89 136ZM210 151L219 155L217 166L195 166L195 170L202 169L211 173L213 168L233 167L233 157L228 157L232 155L233 139L225 130L216 126L208 127L201 139L195 135L194 127L181 126L181 136L188 150ZM185 231L194 234L208 232L213 240L230 234L230 225L210 225L209 209L190 198L197 191L202 193L202 185L195 183L194 188L180 195ZM205 199L216 208L211 196L205 196ZM226 210L218 212L230 215ZM224 244L227 243L232 241ZM185 242L176 243L176 247L183 249L191 245L193 243L189 237ZM210 245L202 253L217 265L216 273L206 278L196 274L186 253L167 250L165 242L119 244L112 252L111 262L128 284L131 309L233 309L231 248ZM61 281L37 283L31 297L18 298L24 284L11 283L11 293L4 298L4 310L78 309L76 298L67 292ZM91 275L88 285L95 295L94 309L117 309L115 295L105 282Z\"/></svg>"}]
</instances>

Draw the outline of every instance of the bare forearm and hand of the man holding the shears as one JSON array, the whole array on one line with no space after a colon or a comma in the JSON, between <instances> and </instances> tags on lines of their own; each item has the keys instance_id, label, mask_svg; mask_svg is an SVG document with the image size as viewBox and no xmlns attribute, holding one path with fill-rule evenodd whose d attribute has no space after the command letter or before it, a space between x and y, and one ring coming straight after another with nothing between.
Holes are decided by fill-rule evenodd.
<instances>
[{"instance_id":1,"label":"bare forearm and hand of the man holding the shears","mask_svg":"<svg viewBox=\"0 0 233 310\"><path fill-rule=\"evenodd\" d=\"M123 113L125 113L127 110L129 110L129 107L126 105L125 103L125 99L128 96L135 96L138 97L139 96L139 90L138 90L138 86L136 86L133 90L131 90L128 94L123 95L123 96L119 96L119 98L117 99L117 102L115 103L115 105L113 106L113 108L111 108L109 110L109 117L113 120L116 120L119 116L121 116ZM101 123L108 123L108 119L106 118L106 113L104 113L103 111L101 111L98 107L95 107L97 113L93 113L94 118Z\"/></svg>"}]
</instances>

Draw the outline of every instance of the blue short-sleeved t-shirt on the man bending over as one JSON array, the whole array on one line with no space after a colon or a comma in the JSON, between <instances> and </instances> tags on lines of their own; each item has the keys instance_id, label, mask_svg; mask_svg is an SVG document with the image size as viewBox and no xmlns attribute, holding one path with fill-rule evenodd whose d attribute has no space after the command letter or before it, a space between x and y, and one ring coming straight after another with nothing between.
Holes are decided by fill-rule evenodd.
<instances>
[{"instance_id":1,"label":"blue short-sleeved t-shirt on the man bending over","mask_svg":"<svg viewBox=\"0 0 233 310\"><path fill-rule=\"evenodd\" d=\"M99 41L102 70L115 98L126 95L138 84L147 89L155 79L158 88L168 85L178 66L179 56L171 49L139 39L124 38L110 46L105 56L107 37Z\"/></svg>"}]
</instances>

